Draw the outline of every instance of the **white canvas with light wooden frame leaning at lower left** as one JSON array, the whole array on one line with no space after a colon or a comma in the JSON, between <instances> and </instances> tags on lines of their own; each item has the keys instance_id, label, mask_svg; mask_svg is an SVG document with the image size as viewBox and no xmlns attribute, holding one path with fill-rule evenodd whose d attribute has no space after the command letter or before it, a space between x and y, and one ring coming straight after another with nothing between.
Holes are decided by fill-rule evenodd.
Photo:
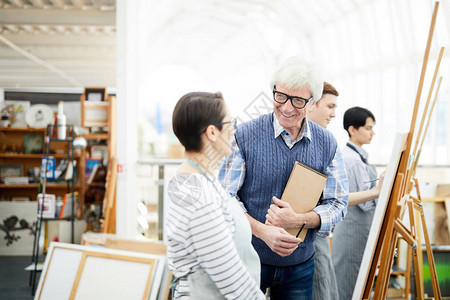
<instances>
[{"instance_id":1,"label":"white canvas with light wooden frame leaning at lower left","mask_svg":"<svg viewBox=\"0 0 450 300\"><path fill-rule=\"evenodd\" d=\"M165 257L51 243L35 299L157 299Z\"/></svg>"}]
</instances>

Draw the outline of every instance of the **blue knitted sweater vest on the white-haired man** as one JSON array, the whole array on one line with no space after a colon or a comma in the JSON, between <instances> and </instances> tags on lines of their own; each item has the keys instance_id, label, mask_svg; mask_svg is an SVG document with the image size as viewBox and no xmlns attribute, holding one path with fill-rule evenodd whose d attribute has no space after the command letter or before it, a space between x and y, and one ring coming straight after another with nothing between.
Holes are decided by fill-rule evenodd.
<instances>
[{"instance_id":1,"label":"blue knitted sweater vest on the white-haired man","mask_svg":"<svg viewBox=\"0 0 450 300\"><path fill-rule=\"evenodd\" d=\"M248 213L264 223L272 196L281 198L295 161L321 173L332 161L337 143L333 135L319 125L307 121L311 140L303 138L289 149L278 136L274 139L273 114L244 123L236 131L236 141L246 164L244 184L238 196ZM253 236L252 244L261 262L272 266L292 266L308 260L315 252L315 230L308 230L305 241L287 257L281 257L261 239Z\"/></svg>"}]
</instances>

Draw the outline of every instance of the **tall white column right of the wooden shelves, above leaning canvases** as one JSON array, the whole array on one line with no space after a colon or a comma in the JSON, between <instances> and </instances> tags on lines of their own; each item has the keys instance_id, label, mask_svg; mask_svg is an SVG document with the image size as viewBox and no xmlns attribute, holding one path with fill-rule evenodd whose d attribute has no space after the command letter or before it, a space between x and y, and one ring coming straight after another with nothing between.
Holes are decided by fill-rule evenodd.
<instances>
[{"instance_id":1,"label":"tall white column right of the wooden shelves, above leaning canvases","mask_svg":"<svg viewBox=\"0 0 450 300\"><path fill-rule=\"evenodd\" d=\"M117 176L116 232L135 237L137 232L137 8L139 1L116 2L117 28Z\"/></svg>"}]
</instances>

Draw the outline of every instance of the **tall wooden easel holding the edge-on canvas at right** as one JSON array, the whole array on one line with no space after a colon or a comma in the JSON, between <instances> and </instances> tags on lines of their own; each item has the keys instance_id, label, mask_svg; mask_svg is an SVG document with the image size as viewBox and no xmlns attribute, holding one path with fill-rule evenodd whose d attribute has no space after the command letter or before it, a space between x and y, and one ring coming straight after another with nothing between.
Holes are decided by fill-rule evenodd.
<instances>
[{"instance_id":1,"label":"tall wooden easel holding the edge-on canvas at right","mask_svg":"<svg viewBox=\"0 0 450 300\"><path fill-rule=\"evenodd\" d=\"M421 77L419 81L418 91L416 95L414 110L413 110L413 116L410 126L410 131L408 133L407 139L406 139L406 145L405 149L402 152L400 163L397 169L397 175L395 177L394 185L392 192L389 197L389 202L386 210L386 214L384 216L384 220L381 227L381 232L377 241L376 249L374 252L372 264L369 270L369 274L366 278L365 286L364 286L364 292L362 294L363 299L369 299L372 287L375 281L375 273L378 266L378 262L380 260L380 255L383 258L381 260L379 269L378 269L378 278L377 283L375 286L375 293L373 295L373 299L385 299L386 298L386 292L387 292L387 286L389 282L389 277L391 274L391 267L392 262L394 258L395 253L395 247L397 245L398 241L398 235L401 234L403 238L408 242L408 244L411 246L412 251L412 257L413 257L413 267L414 267L414 273L415 273L415 281L416 281L416 291L417 291L417 297L419 299L423 299L424 295L424 289L423 289L423 276L422 276L422 257L421 257L421 242L420 242L420 235L419 235L419 224L422 223L423 229L424 229L424 236L425 236L425 242L427 246L427 256L428 261L430 264L430 272L432 281L433 281L433 292L434 297L436 299L441 299L439 285L437 281L436 276L436 269L434 266L434 258L431 251L430 242L428 239L428 233L426 231L426 224L425 219L423 216L423 208L420 198L420 192L418 188L418 182L416 179L411 180L415 173L415 168L417 166L418 156L420 155L420 149L417 152L417 146L419 144L419 141L422 137L422 126L424 123L424 120L427 116L427 110L428 110L428 104L429 100L431 98L431 94L433 91L434 83L436 80L437 72L439 70L440 61L442 59L443 54L443 48L441 48L440 57L437 62L437 66L435 69L435 74L432 81L432 86L430 88L428 100L426 107L424 109L424 113L422 116L422 122L420 125L419 134L416 136L416 145L413 151L413 155L411 156L411 145L412 140L414 137L414 130L416 125L416 118L417 118L417 112L419 109L419 103L420 103L420 97L422 93L422 87L423 82L425 78L425 71L428 63L428 57L431 47L431 40L433 36L434 31L434 25L436 23L436 16L437 16L437 10L439 7L439 2L435 3L430 31L428 35L428 41L427 41L427 47L425 50L425 55L423 59L423 65L422 65L422 72ZM436 93L437 94L437 93ZM431 112L429 114L429 117L431 117ZM423 139L425 138L425 133L422 137L422 143ZM422 144L421 144L422 145ZM415 159L414 159L415 158ZM417 198L410 196L410 191L412 190L412 187L415 183L416 191L417 191ZM409 217L410 217L410 224L411 229L408 230L406 226L402 223L402 215L405 211L406 206L409 208ZM414 211L416 211L416 214L414 214ZM420 220L417 218L417 212L420 212L421 218Z\"/></svg>"}]
</instances>

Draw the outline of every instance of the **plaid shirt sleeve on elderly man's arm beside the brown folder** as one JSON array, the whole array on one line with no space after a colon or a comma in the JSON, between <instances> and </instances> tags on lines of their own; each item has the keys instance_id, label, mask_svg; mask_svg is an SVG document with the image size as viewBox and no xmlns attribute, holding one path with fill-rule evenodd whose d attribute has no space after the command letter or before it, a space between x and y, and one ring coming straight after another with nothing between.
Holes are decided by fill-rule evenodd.
<instances>
[{"instance_id":1,"label":"plaid shirt sleeve on elderly man's arm beside the brown folder","mask_svg":"<svg viewBox=\"0 0 450 300\"><path fill-rule=\"evenodd\" d=\"M317 232L320 236L328 236L334 225L347 213L348 180L339 148L336 148L334 158L325 170L325 174L328 178L322 198L319 205L314 208L321 220L321 226Z\"/></svg>"}]
</instances>

